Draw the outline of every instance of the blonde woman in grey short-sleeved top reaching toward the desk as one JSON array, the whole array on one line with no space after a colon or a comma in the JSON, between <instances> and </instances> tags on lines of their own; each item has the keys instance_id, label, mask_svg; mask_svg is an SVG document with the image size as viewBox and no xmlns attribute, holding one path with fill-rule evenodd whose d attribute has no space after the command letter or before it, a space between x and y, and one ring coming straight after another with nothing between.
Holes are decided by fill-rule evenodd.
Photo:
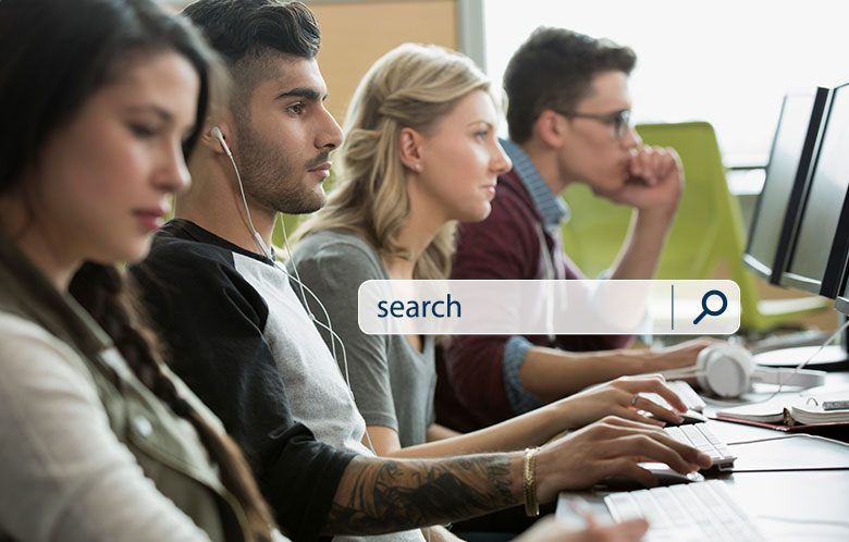
<instances>
[{"instance_id":1,"label":"blonde woman in grey short-sleeved top reaching toward the desk","mask_svg":"<svg viewBox=\"0 0 849 542\"><path fill-rule=\"evenodd\" d=\"M448 276L456 222L487 218L495 180L510 168L497 122L499 100L468 58L413 44L390 51L354 95L328 205L298 230L287 264L321 299L345 344L350 385L378 455L517 449L607 415L662 424L632 408L639 392L660 393L685 409L660 378L619 379L460 435L433 423L432 337L359 330L362 282ZM644 408L679 421L670 410Z\"/></svg>"}]
</instances>

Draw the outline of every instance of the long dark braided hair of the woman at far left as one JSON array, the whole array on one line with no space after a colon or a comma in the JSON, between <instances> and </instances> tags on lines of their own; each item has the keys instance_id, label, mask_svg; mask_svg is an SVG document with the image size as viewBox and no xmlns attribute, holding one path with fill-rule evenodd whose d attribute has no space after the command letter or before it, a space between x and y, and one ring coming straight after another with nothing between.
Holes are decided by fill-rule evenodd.
<instances>
[{"instance_id":1,"label":"long dark braided hair of the woman at far left","mask_svg":"<svg viewBox=\"0 0 849 542\"><path fill-rule=\"evenodd\" d=\"M137 56L176 52L197 72L196 123L185 152L200 135L211 82L220 77L218 58L199 34L152 0L0 0L0 195L20 187L45 141ZM122 273L113 266L87 262L74 275L70 292L112 337L139 380L192 422L219 465L222 482L239 501L254 540L270 540L271 513L247 461L162 371L157 342L140 324Z\"/></svg>"}]
</instances>

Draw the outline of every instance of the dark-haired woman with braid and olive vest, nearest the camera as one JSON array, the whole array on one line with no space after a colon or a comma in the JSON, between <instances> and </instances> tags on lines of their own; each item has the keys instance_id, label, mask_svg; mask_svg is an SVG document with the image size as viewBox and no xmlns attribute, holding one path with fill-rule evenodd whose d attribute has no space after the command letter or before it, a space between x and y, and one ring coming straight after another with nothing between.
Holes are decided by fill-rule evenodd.
<instances>
[{"instance_id":1,"label":"dark-haired woman with braid and olive vest, nearest the camera","mask_svg":"<svg viewBox=\"0 0 849 542\"><path fill-rule=\"evenodd\" d=\"M279 537L115 267L189 182L214 54L151 0L2 0L0 50L0 539Z\"/></svg>"}]
</instances>

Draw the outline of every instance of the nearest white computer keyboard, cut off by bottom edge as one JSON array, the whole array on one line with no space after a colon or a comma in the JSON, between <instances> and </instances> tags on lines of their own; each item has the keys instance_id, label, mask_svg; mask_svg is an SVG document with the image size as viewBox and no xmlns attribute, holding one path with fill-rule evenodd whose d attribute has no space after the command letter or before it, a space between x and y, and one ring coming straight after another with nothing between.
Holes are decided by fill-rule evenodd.
<instances>
[{"instance_id":1,"label":"nearest white computer keyboard, cut off by bottom edge","mask_svg":"<svg viewBox=\"0 0 849 542\"><path fill-rule=\"evenodd\" d=\"M766 540L718 480L612 493L604 504L616 521L649 521L644 541Z\"/></svg>"}]
</instances>

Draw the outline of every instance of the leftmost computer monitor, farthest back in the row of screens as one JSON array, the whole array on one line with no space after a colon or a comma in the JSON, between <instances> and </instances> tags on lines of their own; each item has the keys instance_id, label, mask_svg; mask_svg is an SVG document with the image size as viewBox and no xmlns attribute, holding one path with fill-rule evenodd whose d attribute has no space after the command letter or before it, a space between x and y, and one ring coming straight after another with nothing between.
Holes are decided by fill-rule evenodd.
<instances>
[{"instance_id":1,"label":"leftmost computer monitor, farthest back in the row of screens","mask_svg":"<svg viewBox=\"0 0 849 542\"><path fill-rule=\"evenodd\" d=\"M743 264L772 284L782 279L799 204L828 99L827 88L788 95L775 131L766 180L754 207Z\"/></svg>"}]
</instances>

